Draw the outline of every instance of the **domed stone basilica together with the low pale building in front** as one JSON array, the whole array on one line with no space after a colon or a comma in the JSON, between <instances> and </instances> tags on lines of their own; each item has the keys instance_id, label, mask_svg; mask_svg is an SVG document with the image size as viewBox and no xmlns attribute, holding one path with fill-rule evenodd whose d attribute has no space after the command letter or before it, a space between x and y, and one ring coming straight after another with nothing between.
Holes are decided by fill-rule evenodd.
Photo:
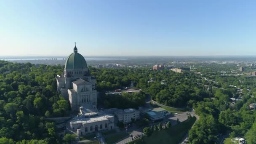
<instances>
[{"instance_id":1,"label":"domed stone basilica together with the low pale building in front","mask_svg":"<svg viewBox=\"0 0 256 144\"><path fill-rule=\"evenodd\" d=\"M79 112L69 120L69 130L81 136L115 128L114 115L97 109L96 78L91 76L85 58L77 52L76 43L62 75L56 80L58 93L69 101L73 112Z\"/></svg>"}]
</instances>

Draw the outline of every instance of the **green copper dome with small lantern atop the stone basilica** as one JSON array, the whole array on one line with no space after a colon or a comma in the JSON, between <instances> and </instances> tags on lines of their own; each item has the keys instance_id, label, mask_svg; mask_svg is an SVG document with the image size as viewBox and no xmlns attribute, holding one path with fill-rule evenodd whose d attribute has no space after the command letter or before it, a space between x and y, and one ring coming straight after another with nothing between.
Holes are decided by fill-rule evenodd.
<instances>
[{"instance_id":1,"label":"green copper dome with small lantern atop the stone basilica","mask_svg":"<svg viewBox=\"0 0 256 144\"><path fill-rule=\"evenodd\" d=\"M65 69L85 69L87 68L87 63L85 58L77 53L77 47L74 48L74 53L71 53L66 60Z\"/></svg>"}]
</instances>

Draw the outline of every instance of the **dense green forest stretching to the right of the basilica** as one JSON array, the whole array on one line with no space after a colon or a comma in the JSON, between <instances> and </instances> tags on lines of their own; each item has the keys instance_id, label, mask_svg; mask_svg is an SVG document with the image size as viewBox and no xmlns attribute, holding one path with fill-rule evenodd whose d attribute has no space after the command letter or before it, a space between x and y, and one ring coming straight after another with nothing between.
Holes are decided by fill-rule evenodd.
<instances>
[{"instance_id":1,"label":"dense green forest stretching to the right of the basilica","mask_svg":"<svg viewBox=\"0 0 256 144\"><path fill-rule=\"evenodd\" d=\"M193 71L175 73L150 68L92 69L92 73L97 77L99 90L129 86L133 81L137 88L162 104L194 108L200 119L189 131L190 144L217 144L219 137L226 133L229 138L225 144L235 136L256 144L256 111L249 109L249 104L256 102L256 77L221 75L222 70L231 73L231 68L234 66L205 65L200 67L201 75ZM161 84L162 80L166 83ZM230 98L240 100L231 106Z\"/></svg>"}]
</instances>

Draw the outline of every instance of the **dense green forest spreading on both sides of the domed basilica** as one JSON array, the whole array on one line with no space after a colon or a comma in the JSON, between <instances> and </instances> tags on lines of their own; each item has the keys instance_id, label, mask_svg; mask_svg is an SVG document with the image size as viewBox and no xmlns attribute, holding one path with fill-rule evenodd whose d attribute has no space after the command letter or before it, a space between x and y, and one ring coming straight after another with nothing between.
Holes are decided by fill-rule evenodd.
<instances>
[{"instance_id":1,"label":"dense green forest spreading on both sides of the domed basilica","mask_svg":"<svg viewBox=\"0 0 256 144\"><path fill-rule=\"evenodd\" d=\"M207 66L200 67L200 75L150 68L89 69L96 76L98 91L120 89L131 81L142 89L140 93L104 99L106 108L139 107L149 94L171 107L195 109L200 119L189 131L191 144L218 143L218 136L226 132L230 138L244 136L248 144L256 143L256 112L249 109L249 104L256 102L256 77L221 75L227 67L218 70ZM44 118L70 113L68 101L56 93L55 77L62 71L60 65L35 67L0 61L0 144L61 143L56 125ZM232 97L241 100L230 106Z\"/></svg>"}]
</instances>

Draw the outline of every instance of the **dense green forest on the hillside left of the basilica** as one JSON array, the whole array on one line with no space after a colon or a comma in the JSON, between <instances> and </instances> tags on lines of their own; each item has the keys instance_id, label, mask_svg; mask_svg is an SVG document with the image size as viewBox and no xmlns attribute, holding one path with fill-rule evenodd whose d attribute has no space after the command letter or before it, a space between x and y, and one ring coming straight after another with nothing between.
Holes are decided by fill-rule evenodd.
<instances>
[{"instance_id":1,"label":"dense green forest on the hillside left of the basilica","mask_svg":"<svg viewBox=\"0 0 256 144\"><path fill-rule=\"evenodd\" d=\"M43 117L68 115L69 104L56 93L61 66L0 61L0 144L60 143L54 123Z\"/></svg>"}]
</instances>

